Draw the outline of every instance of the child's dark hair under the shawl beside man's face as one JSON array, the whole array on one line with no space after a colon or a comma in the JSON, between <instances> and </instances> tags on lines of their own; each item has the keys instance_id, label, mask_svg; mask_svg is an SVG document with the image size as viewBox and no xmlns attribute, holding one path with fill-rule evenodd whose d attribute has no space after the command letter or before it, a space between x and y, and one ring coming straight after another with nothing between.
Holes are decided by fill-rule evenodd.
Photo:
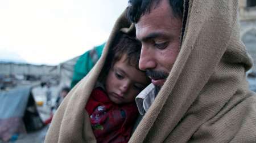
<instances>
[{"instance_id":1,"label":"child's dark hair under the shawl beside man's face","mask_svg":"<svg viewBox=\"0 0 256 143\"><path fill-rule=\"evenodd\" d=\"M110 68L115 62L126 55L127 63L139 70L139 57L141 56L141 42L136 40L135 36L119 32L114 38L112 48L109 49L108 56L102 68L101 78L106 77Z\"/></svg>"}]
</instances>

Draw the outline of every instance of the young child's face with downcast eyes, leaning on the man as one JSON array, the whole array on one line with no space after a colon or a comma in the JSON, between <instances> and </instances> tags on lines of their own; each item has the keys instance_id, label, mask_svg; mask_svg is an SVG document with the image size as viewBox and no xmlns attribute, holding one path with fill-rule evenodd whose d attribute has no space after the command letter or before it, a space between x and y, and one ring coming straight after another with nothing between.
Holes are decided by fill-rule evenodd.
<instances>
[{"instance_id":1,"label":"young child's face with downcast eyes, leaning on the man","mask_svg":"<svg viewBox=\"0 0 256 143\"><path fill-rule=\"evenodd\" d=\"M145 73L130 66L122 56L114 63L106 77L105 88L111 101L117 104L133 102L150 83Z\"/></svg>"}]
</instances>

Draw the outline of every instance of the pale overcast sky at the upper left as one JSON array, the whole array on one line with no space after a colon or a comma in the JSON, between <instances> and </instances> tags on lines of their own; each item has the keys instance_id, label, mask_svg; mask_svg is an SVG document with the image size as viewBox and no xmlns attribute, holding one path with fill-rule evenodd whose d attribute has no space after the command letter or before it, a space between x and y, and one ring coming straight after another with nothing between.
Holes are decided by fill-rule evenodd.
<instances>
[{"instance_id":1,"label":"pale overcast sky at the upper left","mask_svg":"<svg viewBox=\"0 0 256 143\"><path fill-rule=\"evenodd\" d=\"M128 0L0 0L0 60L55 65L105 42Z\"/></svg>"}]
</instances>

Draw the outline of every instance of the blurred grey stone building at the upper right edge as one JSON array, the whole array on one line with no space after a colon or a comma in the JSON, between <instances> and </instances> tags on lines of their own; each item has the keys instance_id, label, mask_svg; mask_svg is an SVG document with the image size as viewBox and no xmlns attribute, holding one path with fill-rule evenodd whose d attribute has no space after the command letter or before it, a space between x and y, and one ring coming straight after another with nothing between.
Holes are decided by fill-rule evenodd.
<instances>
[{"instance_id":1,"label":"blurred grey stone building at the upper right edge","mask_svg":"<svg viewBox=\"0 0 256 143\"><path fill-rule=\"evenodd\" d=\"M252 72L256 73L256 0L239 0L241 39L254 59Z\"/></svg>"}]
</instances>

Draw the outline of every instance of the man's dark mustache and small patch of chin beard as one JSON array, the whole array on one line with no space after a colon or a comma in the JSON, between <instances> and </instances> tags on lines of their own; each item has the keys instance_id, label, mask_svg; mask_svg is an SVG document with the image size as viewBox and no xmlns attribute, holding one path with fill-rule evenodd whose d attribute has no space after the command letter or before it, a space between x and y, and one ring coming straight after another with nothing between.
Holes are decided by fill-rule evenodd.
<instances>
[{"instance_id":1,"label":"man's dark mustache and small patch of chin beard","mask_svg":"<svg viewBox=\"0 0 256 143\"><path fill-rule=\"evenodd\" d=\"M163 71L146 70L146 75L151 79L166 79L169 73ZM155 94L158 94L162 86L155 86Z\"/></svg>"}]
</instances>

